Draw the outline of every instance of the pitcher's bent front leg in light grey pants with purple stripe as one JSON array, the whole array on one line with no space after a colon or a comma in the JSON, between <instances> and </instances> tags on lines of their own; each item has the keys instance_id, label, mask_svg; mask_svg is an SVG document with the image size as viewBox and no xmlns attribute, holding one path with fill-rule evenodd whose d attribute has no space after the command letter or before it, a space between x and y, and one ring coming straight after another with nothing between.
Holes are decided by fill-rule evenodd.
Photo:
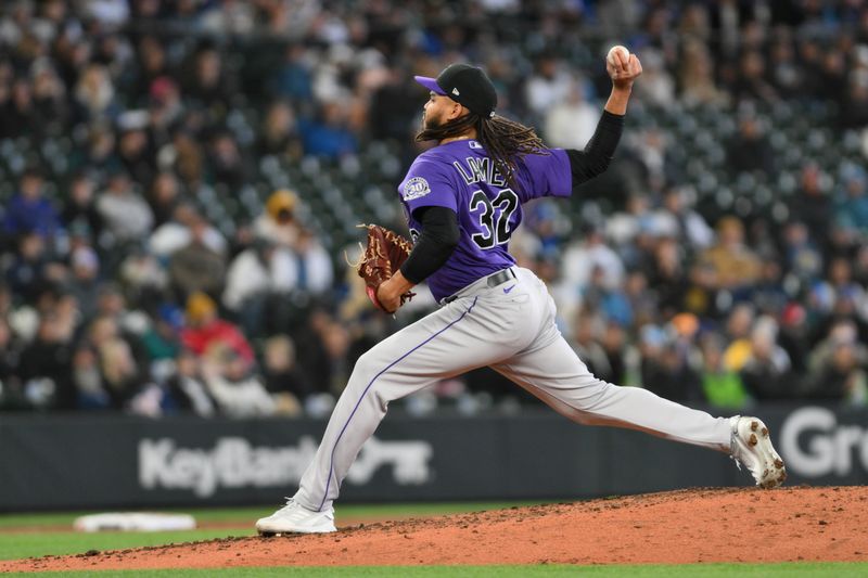
<instances>
[{"instance_id":1,"label":"pitcher's bent front leg in light grey pants with purple stripe","mask_svg":"<svg viewBox=\"0 0 868 578\"><path fill-rule=\"evenodd\" d=\"M439 309L359 358L316 457L302 477L295 501L314 511L331 506L361 446L385 416L390 401L512 354L498 339L498 333L509 327L500 327L499 319L481 314L481 310L484 306L475 306L474 299Z\"/></svg>"}]
</instances>

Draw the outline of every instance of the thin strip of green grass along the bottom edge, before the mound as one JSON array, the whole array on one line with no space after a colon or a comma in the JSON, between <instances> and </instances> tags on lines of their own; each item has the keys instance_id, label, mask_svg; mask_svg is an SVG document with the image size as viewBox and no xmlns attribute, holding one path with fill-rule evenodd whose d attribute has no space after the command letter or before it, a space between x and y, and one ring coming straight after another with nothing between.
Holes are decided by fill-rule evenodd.
<instances>
[{"instance_id":1,"label":"thin strip of green grass along the bottom edge, before the mound","mask_svg":"<svg viewBox=\"0 0 868 578\"><path fill-rule=\"evenodd\" d=\"M89 573L99 578L220 578L241 577L305 577L305 578L523 578L541 576L546 578L561 576L588 576L591 578L613 578L628 576L630 578L851 578L863 577L868 573L868 564L861 563L786 563L786 564L685 564L685 565L647 565L647 566L349 566L335 568L221 568L202 570L106 570ZM73 576L84 577L85 573L37 573L11 574L9 576Z\"/></svg>"}]
</instances>

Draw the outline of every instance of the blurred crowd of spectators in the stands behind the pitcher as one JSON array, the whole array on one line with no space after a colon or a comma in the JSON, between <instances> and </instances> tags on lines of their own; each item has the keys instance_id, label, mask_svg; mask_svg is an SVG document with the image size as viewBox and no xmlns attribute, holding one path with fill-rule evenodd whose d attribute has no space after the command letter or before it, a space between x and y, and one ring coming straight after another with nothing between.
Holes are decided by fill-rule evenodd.
<instances>
[{"instance_id":1,"label":"blurred crowd of spectators in the stands behind the pitcher","mask_svg":"<svg viewBox=\"0 0 868 578\"><path fill-rule=\"evenodd\" d=\"M411 77L455 61L486 67L499 114L584 147L618 42L644 66L631 106L724 113L727 178L771 187L763 111L819 102L835 131L868 125L861 4L3 2L0 409L327 414L357 357L434 304L374 313L344 236L306 218L323 191L269 187L269 160L345 166L385 142L406 167L424 101ZM685 168L665 133L628 123L588 188L605 210L527 207L512 252L549 284L582 359L719 408L868 403L860 164L806 159L775 218L702 210ZM407 407L523 401L483 371Z\"/></svg>"}]
</instances>

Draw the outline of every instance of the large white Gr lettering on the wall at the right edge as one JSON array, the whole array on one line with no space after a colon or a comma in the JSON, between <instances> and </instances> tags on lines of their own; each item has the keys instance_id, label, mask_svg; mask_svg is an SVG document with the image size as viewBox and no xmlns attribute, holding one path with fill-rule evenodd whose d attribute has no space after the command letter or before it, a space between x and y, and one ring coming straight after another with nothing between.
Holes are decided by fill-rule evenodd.
<instances>
[{"instance_id":1,"label":"large white Gr lettering on the wall at the right edge","mask_svg":"<svg viewBox=\"0 0 868 578\"><path fill-rule=\"evenodd\" d=\"M840 423L830 409L793 411L784 419L778 439L787 470L799 476L850 477L868 472L868 423Z\"/></svg>"}]
</instances>

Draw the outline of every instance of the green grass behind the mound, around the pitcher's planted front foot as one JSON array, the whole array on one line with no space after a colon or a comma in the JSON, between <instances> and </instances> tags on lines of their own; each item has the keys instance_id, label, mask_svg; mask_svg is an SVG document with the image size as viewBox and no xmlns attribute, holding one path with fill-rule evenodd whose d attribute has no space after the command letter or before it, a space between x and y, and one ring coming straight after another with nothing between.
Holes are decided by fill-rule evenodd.
<instances>
[{"instance_id":1,"label":"green grass behind the mound, around the pitcher's planted front foot","mask_svg":"<svg viewBox=\"0 0 868 578\"><path fill-rule=\"evenodd\" d=\"M337 523L339 525L352 525L355 521L363 519L434 516L459 512L498 510L531 503L539 502L346 505L339 506ZM58 528L72 529L73 521L87 512L2 515L0 516L0 529L7 528L7 531L0 531L0 560L16 560L48 554L79 554L88 550L123 550L171 542L226 538L227 536L253 536L255 534L253 523L273 511L273 508L184 510L184 513L192 514L199 523L221 523L228 526L187 531L106 531L99 534L58 531ZM40 531L42 527L44 530ZM27 531L12 532L9 531L10 528L27 528Z\"/></svg>"}]
</instances>

